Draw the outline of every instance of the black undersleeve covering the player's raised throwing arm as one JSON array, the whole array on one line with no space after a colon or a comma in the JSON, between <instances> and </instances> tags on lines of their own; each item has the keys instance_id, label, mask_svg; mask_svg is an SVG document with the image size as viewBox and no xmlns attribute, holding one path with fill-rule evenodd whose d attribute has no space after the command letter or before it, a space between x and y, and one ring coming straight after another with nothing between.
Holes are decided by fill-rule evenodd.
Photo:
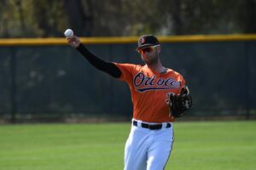
<instances>
[{"instance_id":1,"label":"black undersleeve covering the player's raised throwing arm","mask_svg":"<svg viewBox=\"0 0 256 170\"><path fill-rule=\"evenodd\" d=\"M94 65L98 70L107 72L112 77L118 78L121 76L121 71L119 68L111 62L106 62L95 54L92 54L87 48L84 47L83 43L79 44L77 48L79 53L87 59L91 65Z\"/></svg>"}]
</instances>

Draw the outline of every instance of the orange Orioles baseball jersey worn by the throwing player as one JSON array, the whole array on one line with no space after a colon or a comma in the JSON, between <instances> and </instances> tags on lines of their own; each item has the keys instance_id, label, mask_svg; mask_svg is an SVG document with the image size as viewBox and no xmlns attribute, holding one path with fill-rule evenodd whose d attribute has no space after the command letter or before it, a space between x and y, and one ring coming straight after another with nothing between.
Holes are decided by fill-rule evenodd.
<instances>
[{"instance_id":1,"label":"orange Orioles baseball jersey worn by the throwing player","mask_svg":"<svg viewBox=\"0 0 256 170\"><path fill-rule=\"evenodd\" d=\"M128 83L133 104L133 118L143 122L174 122L166 104L168 93L179 94L185 80L176 71L160 74L148 65L114 63L122 72L119 80Z\"/></svg>"}]
</instances>

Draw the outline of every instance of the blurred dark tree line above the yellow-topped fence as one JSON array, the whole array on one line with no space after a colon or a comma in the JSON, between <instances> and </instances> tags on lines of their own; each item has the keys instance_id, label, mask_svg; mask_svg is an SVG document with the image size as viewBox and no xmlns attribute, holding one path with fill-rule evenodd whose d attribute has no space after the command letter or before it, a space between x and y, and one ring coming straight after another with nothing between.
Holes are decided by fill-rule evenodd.
<instances>
[{"instance_id":1,"label":"blurred dark tree line above the yellow-topped fence","mask_svg":"<svg viewBox=\"0 0 256 170\"><path fill-rule=\"evenodd\" d=\"M256 32L255 0L1 0L0 37Z\"/></svg>"}]
</instances>

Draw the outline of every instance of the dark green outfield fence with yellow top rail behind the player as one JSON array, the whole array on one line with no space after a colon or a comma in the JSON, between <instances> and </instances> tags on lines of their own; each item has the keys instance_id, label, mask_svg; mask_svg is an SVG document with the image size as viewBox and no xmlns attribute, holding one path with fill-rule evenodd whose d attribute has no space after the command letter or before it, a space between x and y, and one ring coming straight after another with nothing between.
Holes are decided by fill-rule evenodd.
<instances>
[{"instance_id":1,"label":"dark green outfield fence with yellow top rail behind the player","mask_svg":"<svg viewBox=\"0 0 256 170\"><path fill-rule=\"evenodd\" d=\"M88 40L88 41L86 41ZM143 64L137 37L83 39L102 59ZM256 112L256 36L160 37L161 59L183 74L194 99L190 116ZM0 117L131 118L125 82L97 71L65 39L0 39Z\"/></svg>"}]
</instances>

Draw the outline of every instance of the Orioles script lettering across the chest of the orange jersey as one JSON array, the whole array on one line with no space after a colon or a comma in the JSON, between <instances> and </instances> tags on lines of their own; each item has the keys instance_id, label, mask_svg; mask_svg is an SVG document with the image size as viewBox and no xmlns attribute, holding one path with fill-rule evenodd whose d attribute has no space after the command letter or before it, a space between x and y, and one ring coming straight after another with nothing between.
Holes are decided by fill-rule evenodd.
<instances>
[{"instance_id":1,"label":"Orioles script lettering across the chest of the orange jersey","mask_svg":"<svg viewBox=\"0 0 256 170\"><path fill-rule=\"evenodd\" d=\"M156 76L146 77L143 72L137 73L133 79L133 84L137 91L145 92L148 90L166 90L172 88L180 88L181 82L177 82L173 77L164 79L160 77L156 79Z\"/></svg>"}]
</instances>

